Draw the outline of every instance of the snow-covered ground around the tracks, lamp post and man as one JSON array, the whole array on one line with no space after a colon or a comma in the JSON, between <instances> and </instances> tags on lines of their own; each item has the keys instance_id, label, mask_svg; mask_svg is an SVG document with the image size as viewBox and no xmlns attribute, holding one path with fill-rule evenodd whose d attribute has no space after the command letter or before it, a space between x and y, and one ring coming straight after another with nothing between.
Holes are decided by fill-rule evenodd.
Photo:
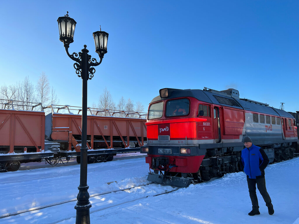
<instances>
[{"instance_id":1,"label":"snow-covered ground around the tracks, lamp post and man","mask_svg":"<svg viewBox=\"0 0 299 224\"><path fill-rule=\"evenodd\" d=\"M142 186L148 183L149 171L144 158L89 164L91 223L297 224L298 167L299 158L295 158L266 168L267 190L275 212L268 214L257 191L261 214L251 217L248 216L251 201L243 172L178 189L158 184ZM75 163L1 173L0 223L75 223L79 179L80 165ZM111 191L116 192L104 194ZM166 191L173 192L162 194ZM161 195L154 196L157 194ZM50 206L57 203L60 205ZM32 211L26 212L28 209ZM3 217L22 211L24 213Z\"/></svg>"}]
</instances>

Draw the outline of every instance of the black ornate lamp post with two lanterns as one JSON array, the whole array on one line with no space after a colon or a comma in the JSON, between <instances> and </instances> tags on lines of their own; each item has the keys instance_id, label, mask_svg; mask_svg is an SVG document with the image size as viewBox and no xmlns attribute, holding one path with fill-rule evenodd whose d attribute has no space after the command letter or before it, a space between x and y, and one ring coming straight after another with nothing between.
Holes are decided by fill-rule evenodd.
<instances>
[{"instance_id":1,"label":"black ornate lamp post with two lanterns","mask_svg":"<svg viewBox=\"0 0 299 224\"><path fill-rule=\"evenodd\" d=\"M67 12L68 13L68 12ZM95 52L100 56L100 61L97 62L95 58L91 59L88 54L86 45L82 52L68 53L68 47L70 43L74 42L74 31L76 26L76 21L66 14L63 17L59 17L58 28L60 34L60 41L63 42L65 51L68 56L75 61L74 68L76 69L76 74L82 78L82 143L81 143L81 154L80 154L80 185L78 187L79 193L77 196L77 205L75 209L76 213L76 224L89 224L89 208L91 203L89 202L89 194L87 189L87 147L86 147L86 137L87 137L87 80L94 76L95 68L101 64L104 54L107 53L107 40L108 33L103 31L97 31L93 33ZM79 55L79 56L78 56Z\"/></svg>"}]
</instances>

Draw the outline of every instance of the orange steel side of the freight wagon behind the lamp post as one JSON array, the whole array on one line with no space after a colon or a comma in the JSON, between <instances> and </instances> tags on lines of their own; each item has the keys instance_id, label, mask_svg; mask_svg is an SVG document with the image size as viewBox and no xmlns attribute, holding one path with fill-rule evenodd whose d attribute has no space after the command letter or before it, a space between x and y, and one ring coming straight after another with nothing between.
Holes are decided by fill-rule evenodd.
<instances>
[{"instance_id":1,"label":"orange steel side of the freight wagon behind the lamp post","mask_svg":"<svg viewBox=\"0 0 299 224\"><path fill-rule=\"evenodd\" d=\"M69 151L71 144L74 142L72 138L74 137L78 141L81 139L81 119L81 115L54 113L52 115L51 138L67 141ZM103 144L104 148L113 148L111 139L122 142L124 147L129 146L130 139L134 139L139 145L143 145L144 139L146 139L145 122L145 119L87 116L87 135L88 140L91 141L89 143L91 144L90 148L103 148ZM99 139L102 142L101 146L97 143ZM119 144L117 147L119 147Z\"/></svg>"}]
</instances>

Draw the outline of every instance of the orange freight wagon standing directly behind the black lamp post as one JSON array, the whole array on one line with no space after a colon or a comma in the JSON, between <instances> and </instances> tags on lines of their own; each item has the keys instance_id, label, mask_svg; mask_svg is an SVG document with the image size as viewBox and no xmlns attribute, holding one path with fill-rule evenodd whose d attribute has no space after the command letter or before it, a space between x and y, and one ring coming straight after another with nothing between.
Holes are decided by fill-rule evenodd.
<instances>
[{"instance_id":1,"label":"orange freight wagon standing directly behind the black lamp post","mask_svg":"<svg viewBox=\"0 0 299 224\"><path fill-rule=\"evenodd\" d=\"M53 113L46 116L46 136L49 136L49 140L60 143L62 157L77 156L79 162L82 116L70 112L74 107L64 106L63 108L66 108L68 113L63 114L55 113L53 105L51 107ZM78 111L80 112L80 110ZM91 108L89 111L91 112L91 115L87 116L89 163L111 161L113 156L118 153L138 152L140 146L143 146L147 140L146 119L97 116L92 113ZM112 115L113 110L107 113ZM119 112L117 113L119 114Z\"/></svg>"}]
</instances>

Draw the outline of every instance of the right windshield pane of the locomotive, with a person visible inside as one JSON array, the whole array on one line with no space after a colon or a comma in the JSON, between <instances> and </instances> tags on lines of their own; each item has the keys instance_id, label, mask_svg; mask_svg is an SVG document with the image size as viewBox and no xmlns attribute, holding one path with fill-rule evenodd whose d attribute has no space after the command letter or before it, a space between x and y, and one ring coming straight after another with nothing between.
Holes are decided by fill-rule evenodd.
<instances>
[{"instance_id":1,"label":"right windshield pane of the locomotive, with a person visible inside","mask_svg":"<svg viewBox=\"0 0 299 224\"><path fill-rule=\"evenodd\" d=\"M189 114L190 101L189 99L169 100L166 104L166 116L184 116Z\"/></svg>"}]
</instances>

